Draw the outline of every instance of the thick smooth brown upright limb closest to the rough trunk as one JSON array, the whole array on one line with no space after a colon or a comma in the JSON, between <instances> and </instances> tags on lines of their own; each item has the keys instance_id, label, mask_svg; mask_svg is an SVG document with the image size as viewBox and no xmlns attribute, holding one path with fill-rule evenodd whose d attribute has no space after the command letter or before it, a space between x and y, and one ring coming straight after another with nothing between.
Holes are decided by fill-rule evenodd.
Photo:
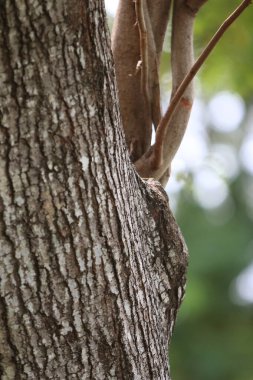
<instances>
[{"instance_id":1,"label":"thick smooth brown upright limb closest to the rough trunk","mask_svg":"<svg viewBox=\"0 0 253 380\"><path fill-rule=\"evenodd\" d=\"M161 119L158 65L169 5L170 0L137 0L135 4L120 0L114 22L112 50L123 127L133 162L149 149L152 124L157 126ZM140 59L143 70L135 74Z\"/></svg>"}]
</instances>

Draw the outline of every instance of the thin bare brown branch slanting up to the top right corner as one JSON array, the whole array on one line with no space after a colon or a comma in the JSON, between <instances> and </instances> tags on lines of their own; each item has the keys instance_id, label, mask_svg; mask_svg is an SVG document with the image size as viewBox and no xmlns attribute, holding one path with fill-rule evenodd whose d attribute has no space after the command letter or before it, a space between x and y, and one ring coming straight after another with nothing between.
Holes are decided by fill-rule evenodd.
<instances>
[{"instance_id":1,"label":"thin bare brown branch slanting up to the top right corner","mask_svg":"<svg viewBox=\"0 0 253 380\"><path fill-rule=\"evenodd\" d=\"M164 114L156 132L156 141L154 144L154 150L152 154L152 166L158 168L162 162L163 156L163 143L164 137L167 131L167 126L176 110L187 86L192 81L194 76L199 71L200 67L203 65L213 48L216 46L222 35L230 27L230 25L241 15L241 13L251 4L252 0L244 0L235 11L223 22L217 32L214 34L202 54L199 56L189 73L186 75L180 86L178 87L175 95L173 96L170 105Z\"/></svg>"}]
</instances>

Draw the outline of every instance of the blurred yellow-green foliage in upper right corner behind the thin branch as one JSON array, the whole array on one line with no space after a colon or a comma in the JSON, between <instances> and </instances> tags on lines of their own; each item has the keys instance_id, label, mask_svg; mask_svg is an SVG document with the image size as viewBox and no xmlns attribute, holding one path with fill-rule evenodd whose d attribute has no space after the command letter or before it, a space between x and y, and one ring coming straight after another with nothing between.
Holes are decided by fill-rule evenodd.
<instances>
[{"instance_id":1,"label":"blurred yellow-green foliage in upper right corner behind the thin branch","mask_svg":"<svg viewBox=\"0 0 253 380\"><path fill-rule=\"evenodd\" d=\"M195 24L196 56L239 3L238 0L212 0L201 8ZM252 99L252 15L249 6L224 34L201 69L200 78L209 94L226 88L240 93L247 101Z\"/></svg>"}]
</instances>

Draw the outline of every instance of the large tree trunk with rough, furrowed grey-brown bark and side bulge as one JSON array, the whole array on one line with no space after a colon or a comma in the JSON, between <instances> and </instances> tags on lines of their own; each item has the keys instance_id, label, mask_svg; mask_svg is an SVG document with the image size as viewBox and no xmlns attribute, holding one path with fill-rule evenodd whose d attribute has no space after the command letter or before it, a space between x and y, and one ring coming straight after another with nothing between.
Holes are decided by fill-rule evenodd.
<instances>
[{"instance_id":1,"label":"large tree trunk with rough, furrowed grey-brown bark and side bulge","mask_svg":"<svg viewBox=\"0 0 253 380\"><path fill-rule=\"evenodd\" d=\"M135 172L100 0L0 2L1 379L170 379L187 252Z\"/></svg>"}]
</instances>

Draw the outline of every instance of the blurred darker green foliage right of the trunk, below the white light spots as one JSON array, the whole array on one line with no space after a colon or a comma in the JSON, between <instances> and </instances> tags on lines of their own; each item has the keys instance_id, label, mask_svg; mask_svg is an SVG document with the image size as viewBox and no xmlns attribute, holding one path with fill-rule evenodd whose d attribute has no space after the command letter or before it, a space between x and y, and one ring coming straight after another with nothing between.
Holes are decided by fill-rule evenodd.
<instances>
[{"instance_id":1,"label":"blurred darker green foliage right of the trunk, below the white light spots","mask_svg":"<svg viewBox=\"0 0 253 380\"><path fill-rule=\"evenodd\" d=\"M252 221L232 193L234 213L221 225L213 223L215 215L202 210L188 190L181 195L177 220L190 261L170 352L176 380L253 379L253 308L236 305L231 289L249 261Z\"/></svg>"}]
</instances>

